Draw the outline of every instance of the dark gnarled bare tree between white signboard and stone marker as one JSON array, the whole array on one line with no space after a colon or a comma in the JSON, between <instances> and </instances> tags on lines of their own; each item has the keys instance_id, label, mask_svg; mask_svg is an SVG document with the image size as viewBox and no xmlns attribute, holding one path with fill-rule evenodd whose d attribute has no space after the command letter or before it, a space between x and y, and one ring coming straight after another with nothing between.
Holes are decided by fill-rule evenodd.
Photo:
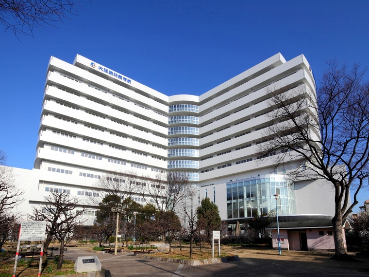
<instances>
[{"instance_id":1,"label":"dark gnarled bare tree between white signboard and stone marker","mask_svg":"<svg viewBox=\"0 0 369 277\"><path fill-rule=\"evenodd\" d=\"M32 220L46 221L47 238L44 248L47 249L52 238L60 241L60 255L58 268L63 265L65 242L73 238L76 227L84 223L84 207L79 204L79 199L70 197L67 193L59 193L54 190L49 196L45 197L45 203L40 208L33 208ZM47 256L46 256L47 258Z\"/></svg>"}]
</instances>

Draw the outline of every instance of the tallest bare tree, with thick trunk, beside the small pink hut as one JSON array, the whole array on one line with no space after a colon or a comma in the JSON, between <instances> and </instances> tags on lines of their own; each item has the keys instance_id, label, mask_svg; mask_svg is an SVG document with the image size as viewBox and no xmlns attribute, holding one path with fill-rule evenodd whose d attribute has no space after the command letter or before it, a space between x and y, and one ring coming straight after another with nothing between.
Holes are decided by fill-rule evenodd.
<instances>
[{"instance_id":1,"label":"tallest bare tree, with thick trunk, beside the small pink hut","mask_svg":"<svg viewBox=\"0 0 369 277\"><path fill-rule=\"evenodd\" d=\"M334 259L346 250L342 222L358 203L359 189L369 176L369 83L364 71L328 63L317 95L308 85L270 90L265 140L257 158L273 156L276 166L291 166L295 181L321 178L335 189ZM269 158L268 158L269 159ZM354 201L349 205L350 188Z\"/></svg>"}]
</instances>

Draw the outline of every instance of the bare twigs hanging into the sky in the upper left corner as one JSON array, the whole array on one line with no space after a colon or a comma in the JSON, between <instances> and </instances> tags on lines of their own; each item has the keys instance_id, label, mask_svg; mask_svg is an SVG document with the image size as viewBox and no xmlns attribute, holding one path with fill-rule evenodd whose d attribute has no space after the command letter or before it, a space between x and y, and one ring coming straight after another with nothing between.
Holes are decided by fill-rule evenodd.
<instances>
[{"instance_id":1,"label":"bare twigs hanging into the sky in the upper left corner","mask_svg":"<svg viewBox=\"0 0 369 277\"><path fill-rule=\"evenodd\" d=\"M74 15L77 4L76 0L0 0L0 22L16 36L33 36L34 29Z\"/></svg>"}]
</instances>

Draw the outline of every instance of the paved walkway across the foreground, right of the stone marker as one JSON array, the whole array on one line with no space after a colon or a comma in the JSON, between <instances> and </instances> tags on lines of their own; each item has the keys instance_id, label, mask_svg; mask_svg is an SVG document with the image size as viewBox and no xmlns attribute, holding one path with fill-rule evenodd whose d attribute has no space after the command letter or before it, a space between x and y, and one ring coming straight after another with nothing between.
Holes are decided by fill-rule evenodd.
<instances>
[{"instance_id":1,"label":"paved walkway across the foreground, right of the stone marker","mask_svg":"<svg viewBox=\"0 0 369 277\"><path fill-rule=\"evenodd\" d=\"M247 252L247 250L245 250ZM113 277L369 277L368 271L317 266L312 261L281 259L241 258L239 261L190 266L173 262L141 259L130 253L112 254L90 253L78 248L68 248L66 259L78 256L96 255L103 269L108 269Z\"/></svg>"}]
</instances>

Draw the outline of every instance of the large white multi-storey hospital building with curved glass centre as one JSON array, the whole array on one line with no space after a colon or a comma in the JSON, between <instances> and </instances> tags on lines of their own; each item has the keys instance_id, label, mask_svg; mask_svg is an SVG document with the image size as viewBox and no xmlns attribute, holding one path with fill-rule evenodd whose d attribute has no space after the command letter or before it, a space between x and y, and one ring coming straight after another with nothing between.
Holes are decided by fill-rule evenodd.
<instances>
[{"instance_id":1,"label":"large white multi-storey hospital building with curved glass centre","mask_svg":"<svg viewBox=\"0 0 369 277\"><path fill-rule=\"evenodd\" d=\"M280 215L333 216L329 186L291 184L287 166L271 171L272 158L256 157L258 145L268 143L269 89L280 84L315 93L303 55L289 61L273 55L200 96L168 96L116 70L81 55L73 64L50 58L34 169L13 168L26 190L21 212L42 203L50 188L83 198L106 173L133 170L152 178L186 173L196 204L209 197L222 220L275 209L275 193ZM91 207L86 216L94 215Z\"/></svg>"}]
</instances>

